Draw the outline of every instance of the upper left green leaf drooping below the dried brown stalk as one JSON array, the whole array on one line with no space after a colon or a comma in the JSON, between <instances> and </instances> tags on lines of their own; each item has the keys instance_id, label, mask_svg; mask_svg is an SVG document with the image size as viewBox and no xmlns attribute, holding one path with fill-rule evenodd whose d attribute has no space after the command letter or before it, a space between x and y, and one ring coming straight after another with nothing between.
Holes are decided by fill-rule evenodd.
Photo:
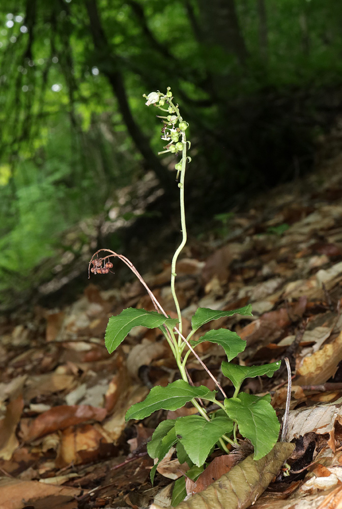
<instances>
[{"instance_id":1,"label":"upper left green leaf drooping below the dried brown stalk","mask_svg":"<svg viewBox=\"0 0 342 509\"><path fill-rule=\"evenodd\" d=\"M178 320L177 318L165 318L164 315L156 311L128 307L120 315L109 318L104 336L106 348L109 353L112 353L124 341L130 330L137 325L154 329L163 323L175 327Z\"/></svg>"}]
</instances>

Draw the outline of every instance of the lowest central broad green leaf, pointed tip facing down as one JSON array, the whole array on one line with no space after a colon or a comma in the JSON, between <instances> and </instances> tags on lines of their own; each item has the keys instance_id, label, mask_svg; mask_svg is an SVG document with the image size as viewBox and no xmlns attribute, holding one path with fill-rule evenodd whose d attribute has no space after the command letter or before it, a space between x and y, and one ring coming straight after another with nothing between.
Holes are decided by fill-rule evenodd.
<instances>
[{"instance_id":1,"label":"lowest central broad green leaf, pointed tip facing down","mask_svg":"<svg viewBox=\"0 0 342 509\"><path fill-rule=\"evenodd\" d=\"M233 422L227 417L206 420L201 415L187 415L176 420L175 430L190 460L200 467L212 447L225 433L231 433Z\"/></svg>"}]
</instances>

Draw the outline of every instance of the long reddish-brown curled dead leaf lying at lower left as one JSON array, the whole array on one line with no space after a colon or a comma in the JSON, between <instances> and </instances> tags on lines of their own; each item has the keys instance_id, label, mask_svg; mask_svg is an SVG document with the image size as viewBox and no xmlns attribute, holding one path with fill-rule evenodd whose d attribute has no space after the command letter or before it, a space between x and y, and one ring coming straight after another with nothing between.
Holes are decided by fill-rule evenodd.
<instances>
[{"instance_id":1,"label":"long reddish-brown curled dead leaf lying at lower left","mask_svg":"<svg viewBox=\"0 0 342 509\"><path fill-rule=\"evenodd\" d=\"M60 405L36 417L23 433L23 440L29 441L56 430L63 430L86 420L102 421L107 414L105 408L90 405Z\"/></svg>"}]
</instances>

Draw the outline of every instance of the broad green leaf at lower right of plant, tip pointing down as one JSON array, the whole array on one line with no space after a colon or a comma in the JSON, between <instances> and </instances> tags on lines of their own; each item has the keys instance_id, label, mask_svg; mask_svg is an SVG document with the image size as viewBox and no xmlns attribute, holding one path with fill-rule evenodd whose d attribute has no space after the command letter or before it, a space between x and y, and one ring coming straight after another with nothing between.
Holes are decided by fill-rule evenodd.
<instances>
[{"instance_id":1,"label":"broad green leaf at lower right of plant, tip pointing down","mask_svg":"<svg viewBox=\"0 0 342 509\"><path fill-rule=\"evenodd\" d=\"M280 423L270 401L269 394L259 397L245 392L224 401L227 414L238 423L241 435L252 442L254 460L269 453L278 439Z\"/></svg>"}]
</instances>

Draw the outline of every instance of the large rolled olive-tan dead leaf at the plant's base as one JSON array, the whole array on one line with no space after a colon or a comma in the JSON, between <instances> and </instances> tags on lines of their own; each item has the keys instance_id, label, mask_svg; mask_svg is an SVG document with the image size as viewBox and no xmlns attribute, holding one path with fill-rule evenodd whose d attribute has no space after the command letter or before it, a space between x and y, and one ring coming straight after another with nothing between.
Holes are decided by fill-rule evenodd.
<instances>
[{"instance_id":1,"label":"large rolled olive-tan dead leaf at the plant's base","mask_svg":"<svg viewBox=\"0 0 342 509\"><path fill-rule=\"evenodd\" d=\"M291 455L294 444L277 442L264 458L253 460L253 455L222 475L208 488L177 505L178 509L245 509L266 490L281 465ZM150 509L161 509L152 504Z\"/></svg>"}]
</instances>

